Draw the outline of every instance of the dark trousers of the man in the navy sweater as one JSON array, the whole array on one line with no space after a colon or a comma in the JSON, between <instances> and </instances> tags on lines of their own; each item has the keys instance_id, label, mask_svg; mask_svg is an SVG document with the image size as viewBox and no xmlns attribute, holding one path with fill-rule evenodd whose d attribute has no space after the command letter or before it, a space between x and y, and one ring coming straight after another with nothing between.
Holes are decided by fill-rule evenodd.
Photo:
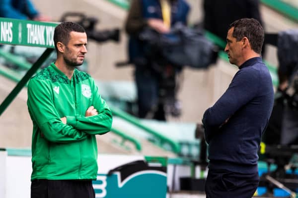
<instances>
[{"instance_id":1,"label":"dark trousers of the man in the navy sweater","mask_svg":"<svg viewBox=\"0 0 298 198\"><path fill-rule=\"evenodd\" d=\"M259 185L259 174L240 174L209 170L206 198L252 198Z\"/></svg>"}]
</instances>

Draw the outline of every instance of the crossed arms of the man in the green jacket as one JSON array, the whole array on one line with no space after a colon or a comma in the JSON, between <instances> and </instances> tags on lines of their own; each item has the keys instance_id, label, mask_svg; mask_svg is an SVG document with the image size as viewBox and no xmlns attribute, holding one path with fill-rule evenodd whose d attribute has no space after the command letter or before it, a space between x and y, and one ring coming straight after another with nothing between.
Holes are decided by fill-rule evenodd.
<instances>
[{"instance_id":1,"label":"crossed arms of the man in the green jacket","mask_svg":"<svg viewBox=\"0 0 298 198\"><path fill-rule=\"evenodd\" d=\"M41 135L50 142L70 143L87 138L88 135L104 134L112 126L112 113L106 102L98 94L92 81L94 93L92 106L84 115L59 116L54 106L50 85L37 79L28 84L28 110Z\"/></svg>"}]
</instances>

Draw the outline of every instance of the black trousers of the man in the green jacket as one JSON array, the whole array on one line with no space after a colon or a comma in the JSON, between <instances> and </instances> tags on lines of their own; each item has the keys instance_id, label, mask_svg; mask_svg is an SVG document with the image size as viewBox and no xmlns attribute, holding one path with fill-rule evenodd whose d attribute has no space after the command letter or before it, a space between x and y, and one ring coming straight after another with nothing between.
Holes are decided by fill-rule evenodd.
<instances>
[{"instance_id":1,"label":"black trousers of the man in the green jacket","mask_svg":"<svg viewBox=\"0 0 298 198\"><path fill-rule=\"evenodd\" d=\"M31 198L95 198L92 181L33 180Z\"/></svg>"}]
</instances>

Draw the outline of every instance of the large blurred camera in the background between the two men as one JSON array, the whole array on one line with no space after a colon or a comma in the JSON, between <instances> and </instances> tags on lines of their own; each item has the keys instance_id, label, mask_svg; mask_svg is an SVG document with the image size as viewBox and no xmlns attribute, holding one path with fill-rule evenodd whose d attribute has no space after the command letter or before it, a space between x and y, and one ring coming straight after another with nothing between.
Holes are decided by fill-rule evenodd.
<instances>
[{"instance_id":1,"label":"large blurred camera in the background between the two men","mask_svg":"<svg viewBox=\"0 0 298 198\"><path fill-rule=\"evenodd\" d=\"M136 65L150 66L158 80L159 101L166 114L178 117L181 103L176 99L179 73L184 66L206 69L218 58L218 48L208 41L202 30L175 24L167 34L145 28L138 35L143 44L143 56L131 58Z\"/></svg>"}]
</instances>

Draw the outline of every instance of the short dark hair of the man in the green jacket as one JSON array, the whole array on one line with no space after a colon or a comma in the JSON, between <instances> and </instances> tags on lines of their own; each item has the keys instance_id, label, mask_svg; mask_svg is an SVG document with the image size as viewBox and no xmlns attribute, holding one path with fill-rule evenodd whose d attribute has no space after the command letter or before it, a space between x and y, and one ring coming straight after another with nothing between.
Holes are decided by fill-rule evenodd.
<instances>
[{"instance_id":1,"label":"short dark hair of the man in the green jacket","mask_svg":"<svg viewBox=\"0 0 298 198\"><path fill-rule=\"evenodd\" d=\"M57 43L61 42L64 45L67 45L70 41L70 33L71 32L85 32L84 28L77 23L74 22L62 22L55 28L54 32L54 45L55 49L57 49Z\"/></svg>"}]
</instances>

